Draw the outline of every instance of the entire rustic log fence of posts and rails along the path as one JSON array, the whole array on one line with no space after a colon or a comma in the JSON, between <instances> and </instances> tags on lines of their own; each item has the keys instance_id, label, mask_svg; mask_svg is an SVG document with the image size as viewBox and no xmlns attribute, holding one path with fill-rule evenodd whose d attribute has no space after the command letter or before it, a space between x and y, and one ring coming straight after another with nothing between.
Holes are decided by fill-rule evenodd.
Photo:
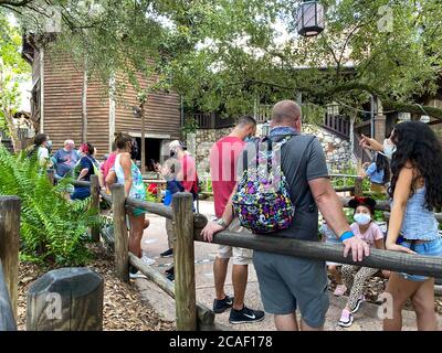
<instances>
[{"instance_id":1,"label":"entire rustic log fence of posts and rails along the path","mask_svg":"<svg viewBox=\"0 0 442 353\"><path fill-rule=\"evenodd\" d=\"M201 214L193 213L191 194L175 194L175 212L171 212L169 207L161 204L125 197L124 186L120 184L113 185L112 196L109 196L97 188L95 178L96 176L93 175L91 182L76 182L74 184L91 188L92 206L94 208L97 207L99 196L112 203L115 234L115 266L118 278L123 281L128 281L129 264L135 266L169 296L175 298L178 330L193 331L197 329L214 329L214 313L206 306L198 303L196 298L194 242L203 242L201 231L206 226L208 220ZM360 190L361 189L358 189L356 185L354 190L355 194L359 193ZM344 207L348 206L348 200L349 199L341 197ZM127 207L141 208L173 221L175 285L161 274L145 265L134 254L129 253L127 226L125 223ZM378 202L376 210L387 212L389 211L389 205L387 202ZM20 200L13 196L0 197L0 330L15 329L14 313L17 317L19 217ZM442 222L442 216L438 215L438 220ZM93 234L93 231L94 229L92 229L91 234ZM93 238L97 240L99 236L96 237L93 234ZM215 234L213 243L274 254L330 260L343 264L357 264L372 268L442 278L442 258L440 257L371 249L371 255L369 257L365 258L361 263L355 263L350 254L347 258L344 258L343 247L338 245L232 232ZM3 265L4 270L1 265ZM11 303L8 302L9 298L11 298Z\"/></svg>"}]
</instances>

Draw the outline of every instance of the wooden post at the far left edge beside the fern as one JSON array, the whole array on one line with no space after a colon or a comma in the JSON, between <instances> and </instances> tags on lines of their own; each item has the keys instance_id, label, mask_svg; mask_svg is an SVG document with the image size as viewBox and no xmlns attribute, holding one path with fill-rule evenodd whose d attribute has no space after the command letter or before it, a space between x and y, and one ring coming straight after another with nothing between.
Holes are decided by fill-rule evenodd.
<instances>
[{"instance_id":1,"label":"wooden post at the far left edge beside the fern","mask_svg":"<svg viewBox=\"0 0 442 353\"><path fill-rule=\"evenodd\" d=\"M0 196L0 259L17 320L19 282L20 207L18 196ZM1 313L0 313L1 314Z\"/></svg>"}]
</instances>

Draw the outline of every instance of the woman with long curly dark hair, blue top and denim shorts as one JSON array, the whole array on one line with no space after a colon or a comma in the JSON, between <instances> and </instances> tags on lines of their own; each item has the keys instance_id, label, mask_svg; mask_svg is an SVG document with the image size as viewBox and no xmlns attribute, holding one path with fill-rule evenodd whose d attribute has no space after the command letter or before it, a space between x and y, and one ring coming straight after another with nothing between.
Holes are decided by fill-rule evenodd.
<instances>
[{"instance_id":1,"label":"woman with long curly dark hair, blue top and denim shorts","mask_svg":"<svg viewBox=\"0 0 442 353\"><path fill-rule=\"evenodd\" d=\"M442 148L430 127L420 121L399 124L391 142L391 217L386 248L442 256L442 239L434 210L442 206ZM412 300L418 330L438 330L434 278L392 272L386 292L392 296L393 317L383 330L401 330L402 308Z\"/></svg>"}]
</instances>

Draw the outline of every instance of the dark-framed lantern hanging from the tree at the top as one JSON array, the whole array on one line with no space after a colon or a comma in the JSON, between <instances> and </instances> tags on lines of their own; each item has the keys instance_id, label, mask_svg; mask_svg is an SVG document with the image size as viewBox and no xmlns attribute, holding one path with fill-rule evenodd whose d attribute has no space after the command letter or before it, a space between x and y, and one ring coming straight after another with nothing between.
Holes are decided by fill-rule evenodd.
<instances>
[{"instance_id":1,"label":"dark-framed lantern hanging from the tree at the top","mask_svg":"<svg viewBox=\"0 0 442 353\"><path fill-rule=\"evenodd\" d=\"M297 32L314 36L324 31L324 7L317 1L304 1L297 9Z\"/></svg>"}]
</instances>

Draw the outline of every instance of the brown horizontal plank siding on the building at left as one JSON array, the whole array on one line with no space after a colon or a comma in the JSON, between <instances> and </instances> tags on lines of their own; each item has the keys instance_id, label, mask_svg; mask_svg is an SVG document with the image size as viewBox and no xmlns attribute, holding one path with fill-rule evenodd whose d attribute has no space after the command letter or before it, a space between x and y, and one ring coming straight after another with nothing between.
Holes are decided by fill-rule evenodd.
<instances>
[{"instance_id":1,"label":"brown horizontal plank siding on the building at left","mask_svg":"<svg viewBox=\"0 0 442 353\"><path fill-rule=\"evenodd\" d=\"M120 76L118 79L123 79ZM152 83L155 77L149 79ZM147 85L147 81L144 81ZM46 50L44 53L44 131L53 141L53 150L63 141L82 142L82 87L83 72L67 55ZM131 106L138 106L137 94L127 85L118 97L115 109L115 131L141 132L141 120L134 117ZM87 140L94 145L101 159L109 152L109 100L98 81L87 83ZM181 137L180 98L175 93L149 95L146 107L146 133Z\"/></svg>"}]
</instances>

